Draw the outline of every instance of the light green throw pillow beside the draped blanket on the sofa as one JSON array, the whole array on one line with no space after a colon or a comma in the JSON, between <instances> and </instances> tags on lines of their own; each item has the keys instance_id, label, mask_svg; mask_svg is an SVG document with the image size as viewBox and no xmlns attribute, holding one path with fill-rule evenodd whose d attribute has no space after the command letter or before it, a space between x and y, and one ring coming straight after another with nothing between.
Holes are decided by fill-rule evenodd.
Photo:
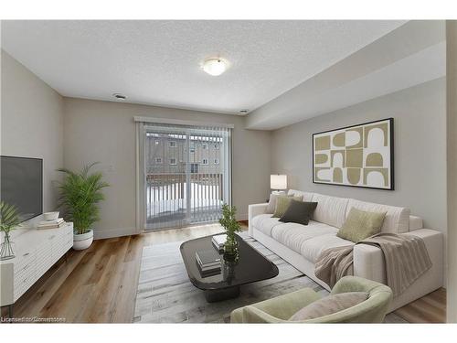
<instances>
[{"instance_id":1,"label":"light green throw pillow beside the draped blanket on the sofa","mask_svg":"<svg viewBox=\"0 0 457 343\"><path fill-rule=\"evenodd\" d=\"M352 208L336 236L355 243L365 240L381 231L386 213L367 212Z\"/></svg>"}]
</instances>

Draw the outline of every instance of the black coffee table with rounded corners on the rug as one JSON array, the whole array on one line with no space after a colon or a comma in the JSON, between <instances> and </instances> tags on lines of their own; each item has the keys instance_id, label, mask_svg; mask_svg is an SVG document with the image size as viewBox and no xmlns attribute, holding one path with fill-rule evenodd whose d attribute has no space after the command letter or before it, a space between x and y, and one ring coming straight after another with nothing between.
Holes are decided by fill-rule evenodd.
<instances>
[{"instance_id":1,"label":"black coffee table with rounded corners on the rug","mask_svg":"<svg viewBox=\"0 0 457 343\"><path fill-rule=\"evenodd\" d=\"M202 276L197 266L196 252L216 250L211 243L212 237L211 235L185 241L180 247L190 282L205 292L208 303L237 297L240 285L271 279L278 275L279 270L276 264L237 236L239 241L238 263L226 263L220 252L220 273L207 277Z\"/></svg>"}]
</instances>

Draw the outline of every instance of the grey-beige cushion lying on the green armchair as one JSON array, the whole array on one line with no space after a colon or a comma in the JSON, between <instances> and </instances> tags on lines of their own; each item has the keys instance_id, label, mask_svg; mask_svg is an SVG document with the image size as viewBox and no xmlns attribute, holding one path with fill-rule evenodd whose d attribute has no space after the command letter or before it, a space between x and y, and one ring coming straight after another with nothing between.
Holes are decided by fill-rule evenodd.
<instances>
[{"instance_id":1,"label":"grey-beige cushion lying on the green armchair","mask_svg":"<svg viewBox=\"0 0 457 343\"><path fill-rule=\"evenodd\" d=\"M322 299L314 301L310 305L304 306L290 317L291 321L308 320L321 316L332 315L343 311L349 307L363 303L368 298L365 292L348 292L337 295L328 295Z\"/></svg>"}]
</instances>

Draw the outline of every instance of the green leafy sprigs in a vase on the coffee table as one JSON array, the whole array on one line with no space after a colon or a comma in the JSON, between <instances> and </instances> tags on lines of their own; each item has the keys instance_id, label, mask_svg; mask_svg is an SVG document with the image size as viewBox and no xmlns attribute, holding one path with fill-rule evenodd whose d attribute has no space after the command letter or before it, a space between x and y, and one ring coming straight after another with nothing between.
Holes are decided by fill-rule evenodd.
<instances>
[{"instance_id":1,"label":"green leafy sprigs in a vase on the coffee table","mask_svg":"<svg viewBox=\"0 0 457 343\"><path fill-rule=\"evenodd\" d=\"M237 208L227 204L222 205L222 218L220 225L226 230L227 241L224 244L224 260L237 262L239 260L239 246L236 234L241 231L239 222L235 219Z\"/></svg>"}]
</instances>

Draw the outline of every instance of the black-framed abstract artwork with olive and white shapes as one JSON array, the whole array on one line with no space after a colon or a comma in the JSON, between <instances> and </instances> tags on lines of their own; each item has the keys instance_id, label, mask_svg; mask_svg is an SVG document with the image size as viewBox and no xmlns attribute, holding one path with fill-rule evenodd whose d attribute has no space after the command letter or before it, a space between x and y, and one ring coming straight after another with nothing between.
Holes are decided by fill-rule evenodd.
<instances>
[{"instance_id":1,"label":"black-framed abstract artwork with olive and white shapes","mask_svg":"<svg viewBox=\"0 0 457 343\"><path fill-rule=\"evenodd\" d=\"M313 182L393 190L393 118L313 134Z\"/></svg>"}]
</instances>

